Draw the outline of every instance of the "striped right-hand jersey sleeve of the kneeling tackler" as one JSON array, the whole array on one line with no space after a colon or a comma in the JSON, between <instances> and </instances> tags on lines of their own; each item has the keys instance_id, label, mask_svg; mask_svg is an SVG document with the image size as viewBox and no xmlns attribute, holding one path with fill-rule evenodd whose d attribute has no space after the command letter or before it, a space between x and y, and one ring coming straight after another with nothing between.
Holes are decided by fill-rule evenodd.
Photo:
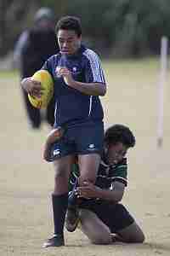
<instances>
[{"instance_id":1,"label":"striped right-hand jersey sleeve of the kneeling tackler","mask_svg":"<svg viewBox=\"0 0 170 256\"><path fill-rule=\"evenodd\" d=\"M115 168L114 177L112 183L115 181L123 183L127 186L127 159L124 158L122 162L118 163Z\"/></svg>"}]
</instances>

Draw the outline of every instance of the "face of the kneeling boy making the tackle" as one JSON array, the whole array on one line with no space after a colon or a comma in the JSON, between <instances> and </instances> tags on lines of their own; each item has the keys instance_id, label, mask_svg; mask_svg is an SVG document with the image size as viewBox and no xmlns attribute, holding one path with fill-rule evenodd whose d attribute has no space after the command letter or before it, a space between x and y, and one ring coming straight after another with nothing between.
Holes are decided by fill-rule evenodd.
<instances>
[{"instance_id":1,"label":"face of the kneeling boy making the tackle","mask_svg":"<svg viewBox=\"0 0 170 256\"><path fill-rule=\"evenodd\" d=\"M111 165L120 162L127 154L127 149L127 146L122 143L111 144L107 152L108 163Z\"/></svg>"}]
</instances>

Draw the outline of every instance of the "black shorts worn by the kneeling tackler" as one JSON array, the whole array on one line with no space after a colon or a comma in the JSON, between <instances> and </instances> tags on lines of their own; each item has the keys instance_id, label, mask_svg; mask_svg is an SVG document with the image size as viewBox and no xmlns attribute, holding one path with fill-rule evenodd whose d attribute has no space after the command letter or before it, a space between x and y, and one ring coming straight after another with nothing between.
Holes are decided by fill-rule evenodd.
<instances>
[{"instance_id":1,"label":"black shorts worn by the kneeling tackler","mask_svg":"<svg viewBox=\"0 0 170 256\"><path fill-rule=\"evenodd\" d=\"M83 201L81 208L94 212L111 230L116 233L133 224L134 218L122 204L114 204L111 201Z\"/></svg>"}]
</instances>

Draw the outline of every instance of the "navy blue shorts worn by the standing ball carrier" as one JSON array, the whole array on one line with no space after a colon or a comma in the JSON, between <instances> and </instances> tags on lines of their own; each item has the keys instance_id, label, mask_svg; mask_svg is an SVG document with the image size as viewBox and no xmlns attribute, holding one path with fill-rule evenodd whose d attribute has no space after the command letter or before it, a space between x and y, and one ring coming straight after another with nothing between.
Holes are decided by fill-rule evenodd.
<instances>
[{"instance_id":1,"label":"navy blue shorts worn by the standing ball carrier","mask_svg":"<svg viewBox=\"0 0 170 256\"><path fill-rule=\"evenodd\" d=\"M104 124L102 121L88 121L65 128L63 137L50 149L51 160L69 154L101 154L104 142Z\"/></svg>"}]
</instances>

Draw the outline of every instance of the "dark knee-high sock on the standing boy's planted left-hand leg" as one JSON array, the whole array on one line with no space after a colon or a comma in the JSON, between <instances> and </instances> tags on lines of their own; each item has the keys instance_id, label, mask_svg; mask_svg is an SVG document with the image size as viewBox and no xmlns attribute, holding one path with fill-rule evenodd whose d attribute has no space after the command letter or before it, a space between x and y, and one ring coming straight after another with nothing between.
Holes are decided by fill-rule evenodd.
<instances>
[{"instance_id":1,"label":"dark knee-high sock on the standing boy's planted left-hand leg","mask_svg":"<svg viewBox=\"0 0 170 256\"><path fill-rule=\"evenodd\" d=\"M65 213L68 207L68 193L63 195L52 194L54 212L54 234L63 236Z\"/></svg>"}]
</instances>

